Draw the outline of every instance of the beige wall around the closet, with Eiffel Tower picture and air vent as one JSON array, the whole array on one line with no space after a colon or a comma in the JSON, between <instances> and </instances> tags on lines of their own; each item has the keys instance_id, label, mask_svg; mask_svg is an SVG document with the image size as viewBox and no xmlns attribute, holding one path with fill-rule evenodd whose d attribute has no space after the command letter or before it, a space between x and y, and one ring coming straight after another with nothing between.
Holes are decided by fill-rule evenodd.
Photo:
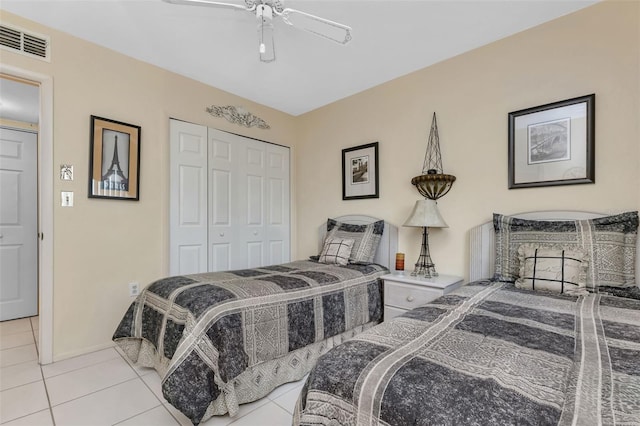
<instances>
[{"instance_id":1,"label":"beige wall around the closet, with Eiffel Tower picture and air vent","mask_svg":"<svg viewBox=\"0 0 640 426\"><path fill-rule=\"evenodd\" d=\"M168 273L169 117L292 147L294 117L2 12L0 19L51 36L46 63L2 50L2 64L53 78L54 359L109 345L132 301L128 283ZM205 107L243 105L270 130L211 117ZM142 127L140 201L89 199L90 115ZM73 164L75 179L58 178ZM58 204L74 191L75 206Z\"/></svg>"}]
</instances>

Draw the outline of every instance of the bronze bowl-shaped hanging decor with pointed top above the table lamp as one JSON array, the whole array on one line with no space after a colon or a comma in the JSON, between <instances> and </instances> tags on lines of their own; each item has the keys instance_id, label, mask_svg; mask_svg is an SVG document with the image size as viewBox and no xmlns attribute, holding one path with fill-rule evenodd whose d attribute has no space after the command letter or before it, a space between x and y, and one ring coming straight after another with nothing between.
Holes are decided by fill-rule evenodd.
<instances>
[{"instance_id":1,"label":"bronze bowl-shaped hanging decor with pointed top above the table lamp","mask_svg":"<svg viewBox=\"0 0 640 426\"><path fill-rule=\"evenodd\" d=\"M456 177L442 173L442 155L440 154L440 137L438 136L438 122L433 113L431 131L427 142L427 152L424 155L422 175L411 179L418 192L425 198L437 200L444 197L453 186Z\"/></svg>"}]
</instances>

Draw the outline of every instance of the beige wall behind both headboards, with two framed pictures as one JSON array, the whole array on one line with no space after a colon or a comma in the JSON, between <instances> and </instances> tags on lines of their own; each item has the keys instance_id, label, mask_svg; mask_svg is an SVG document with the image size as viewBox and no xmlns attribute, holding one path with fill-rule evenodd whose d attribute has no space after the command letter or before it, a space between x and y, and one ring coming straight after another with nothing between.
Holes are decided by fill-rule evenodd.
<instances>
[{"instance_id":1,"label":"beige wall behind both headboards, with two framed pictures","mask_svg":"<svg viewBox=\"0 0 640 426\"><path fill-rule=\"evenodd\" d=\"M312 230L327 217L369 213L402 225L420 197L410 181L434 111L444 171L457 177L438 203L449 228L430 233L441 273L468 276L468 231L493 212L638 209L639 56L640 3L606 1L298 117L298 254L316 252ZM590 93L596 184L507 189L507 114ZM342 201L341 150L373 141L380 198ZM419 247L420 230L400 228L406 264Z\"/></svg>"}]
</instances>

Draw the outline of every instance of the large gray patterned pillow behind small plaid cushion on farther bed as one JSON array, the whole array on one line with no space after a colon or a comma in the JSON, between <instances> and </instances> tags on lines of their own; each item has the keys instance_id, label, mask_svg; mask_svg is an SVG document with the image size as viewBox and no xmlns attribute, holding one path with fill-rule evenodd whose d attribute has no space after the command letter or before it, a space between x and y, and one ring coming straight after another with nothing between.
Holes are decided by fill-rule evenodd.
<instances>
[{"instance_id":1,"label":"large gray patterned pillow behind small plaid cushion on farther bed","mask_svg":"<svg viewBox=\"0 0 640 426\"><path fill-rule=\"evenodd\" d=\"M384 220L368 225L351 225L328 219L325 241L329 238L352 239L354 243L349 262L372 263L382 238L382 231L384 231Z\"/></svg>"}]
</instances>

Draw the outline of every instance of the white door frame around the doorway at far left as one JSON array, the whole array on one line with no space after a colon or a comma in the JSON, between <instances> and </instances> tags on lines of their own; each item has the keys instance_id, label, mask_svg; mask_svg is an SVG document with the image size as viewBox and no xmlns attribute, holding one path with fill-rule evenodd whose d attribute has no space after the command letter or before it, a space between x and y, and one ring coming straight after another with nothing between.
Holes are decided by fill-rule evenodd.
<instances>
[{"instance_id":1,"label":"white door frame around the doorway at far left","mask_svg":"<svg viewBox=\"0 0 640 426\"><path fill-rule=\"evenodd\" d=\"M40 364L53 362L53 78L0 64L0 72L40 84L38 123L38 352Z\"/></svg>"}]
</instances>

